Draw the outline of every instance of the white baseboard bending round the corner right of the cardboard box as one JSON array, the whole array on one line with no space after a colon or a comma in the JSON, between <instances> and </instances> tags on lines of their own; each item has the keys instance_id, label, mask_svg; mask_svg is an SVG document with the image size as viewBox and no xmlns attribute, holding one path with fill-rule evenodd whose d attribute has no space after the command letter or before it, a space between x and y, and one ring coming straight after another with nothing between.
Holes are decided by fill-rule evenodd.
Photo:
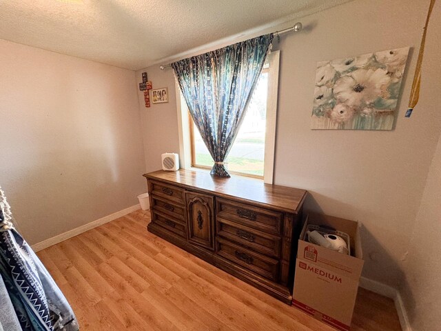
<instances>
[{"instance_id":1,"label":"white baseboard bending round the corner right of the cardboard box","mask_svg":"<svg viewBox=\"0 0 441 331\"><path fill-rule=\"evenodd\" d=\"M379 281L373 281L372 279L368 279L365 277L360 278L360 287L374 293L381 294L384 297L393 299L393 302L395 303L395 308L398 313L398 319L400 319L402 331L412 331L411 324L409 323L409 319L407 318L406 308L404 307L401 294L398 290L389 285L380 283Z\"/></svg>"}]
</instances>

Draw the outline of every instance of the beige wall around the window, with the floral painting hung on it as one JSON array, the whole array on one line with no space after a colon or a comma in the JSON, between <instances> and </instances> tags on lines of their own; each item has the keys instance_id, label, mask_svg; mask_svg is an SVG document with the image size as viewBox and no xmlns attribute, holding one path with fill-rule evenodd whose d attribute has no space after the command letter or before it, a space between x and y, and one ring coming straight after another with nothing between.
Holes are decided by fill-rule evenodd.
<instances>
[{"instance_id":1,"label":"beige wall around the window, with the floral painting hung on it","mask_svg":"<svg viewBox=\"0 0 441 331\"><path fill-rule=\"evenodd\" d=\"M359 220L364 276L395 288L404 279L402 259L441 128L441 3L429 27L420 103L404 119L427 6L427 1L353 1L300 19L303 32L274 42L280 49L275 183L309 190L309 210ZM309 129L318 61L404 46L412 49L394 130ZM171 98L165 105L141 105L149 116L143 131L147 171L153 171L161 168L162 152L178 151L174 78L171 69L145 71L154 88L169 88Z\"/></svg>"}]
</instances>

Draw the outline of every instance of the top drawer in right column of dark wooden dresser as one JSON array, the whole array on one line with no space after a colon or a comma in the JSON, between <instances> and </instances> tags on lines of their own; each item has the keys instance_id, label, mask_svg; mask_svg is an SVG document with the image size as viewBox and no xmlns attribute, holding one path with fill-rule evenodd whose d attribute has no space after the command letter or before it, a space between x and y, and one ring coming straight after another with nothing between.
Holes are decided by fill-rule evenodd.
<instances>
[{"instance_id":1,"label":"top drawer in right column of dark wooden dresser","mask_svg":"<svg viewBox=\"0 0 441 331\"><path fill-rule=\"evenodd\" d=\"M280 235L283 214L225 199L216 199L217 217Z\"/></svg>"}]
</instances>

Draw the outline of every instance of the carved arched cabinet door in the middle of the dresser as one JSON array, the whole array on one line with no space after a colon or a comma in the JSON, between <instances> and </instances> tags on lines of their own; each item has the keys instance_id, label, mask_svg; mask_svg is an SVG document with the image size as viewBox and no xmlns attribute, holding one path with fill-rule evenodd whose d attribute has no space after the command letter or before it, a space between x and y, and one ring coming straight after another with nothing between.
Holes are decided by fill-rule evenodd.
<instances>
[{"instance_id":1,"label":"carved arched cabinet door in the middle of the dresser","mask_svg":"<svg viewBox=\"0 0 441 331\"><path fill-rule=\"evenodd\" d=\"M207 194L185 192L188 240L214 250L214 198Z\"/></svg>"}]
</instances>

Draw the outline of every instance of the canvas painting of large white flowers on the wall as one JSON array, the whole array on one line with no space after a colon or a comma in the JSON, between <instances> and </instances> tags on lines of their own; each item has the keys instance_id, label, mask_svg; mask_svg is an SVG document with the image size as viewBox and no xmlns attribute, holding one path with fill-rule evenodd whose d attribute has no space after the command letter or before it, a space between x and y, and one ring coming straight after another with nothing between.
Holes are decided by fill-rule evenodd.
<instances>
[{"instance_id":1,"label":"canvas painting of large white flowers on the wall","mask_svg":"<svg viewBox=\"0 0 441 331\"><path fill-rule=\"evenodd\" d=\"M312 129L391 130L409 48L317 63Z\"/></svg>"}]
</instances>

